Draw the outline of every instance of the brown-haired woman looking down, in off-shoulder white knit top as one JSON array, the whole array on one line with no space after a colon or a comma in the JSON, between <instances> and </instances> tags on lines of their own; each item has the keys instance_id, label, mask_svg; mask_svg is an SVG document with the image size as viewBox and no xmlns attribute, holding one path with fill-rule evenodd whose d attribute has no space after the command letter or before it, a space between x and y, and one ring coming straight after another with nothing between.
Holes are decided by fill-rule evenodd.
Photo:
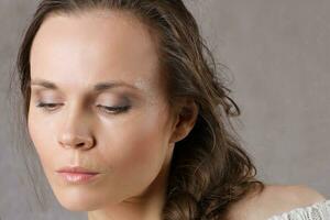
<instances>
[{"instance_id":1,"label":"brown-haired woman looking down, in off-shoulder white knit top","mask_svg":"<svg viewBox=\"0 0 330 220\"><path fill-rule=\"evenodd\" d=\"M228 127L240 109L180 0L43 0L18 68L29 134L68 210L329 219L316 190L255 178Z\"/></svg>"}]
</instances>

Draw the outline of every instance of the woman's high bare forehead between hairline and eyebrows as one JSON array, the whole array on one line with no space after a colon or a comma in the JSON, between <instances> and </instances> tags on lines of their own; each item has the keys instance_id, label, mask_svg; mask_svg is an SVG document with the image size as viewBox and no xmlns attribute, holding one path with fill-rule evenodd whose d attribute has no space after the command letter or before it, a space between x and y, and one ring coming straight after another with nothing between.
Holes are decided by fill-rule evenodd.
<instances>
[{"instance_id":1,"label":"woman's high bare forehead between hairline and eyebrows","mask_svg":"<svg viewBox=\"0 0 330 220\"><path fill-rule=\"evenodd\" d=\"M32 79L74 89L101 80L157 87L160 78L155 37L127 12L52 14L34 38L30 62Z\"/></svg>"}]
</instances>

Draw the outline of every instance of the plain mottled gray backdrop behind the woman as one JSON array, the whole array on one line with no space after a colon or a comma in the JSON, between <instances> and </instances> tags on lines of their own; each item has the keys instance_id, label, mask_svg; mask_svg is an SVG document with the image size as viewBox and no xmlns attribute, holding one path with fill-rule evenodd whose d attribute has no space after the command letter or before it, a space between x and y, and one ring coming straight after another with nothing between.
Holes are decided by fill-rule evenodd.
<instances>
[{"instance_id":1,"label":"plain mottled gray backdrop behind the woman","mask_svg":"<svg viewBox=\"0 0 330 220\"><path fill-rule=\"evenodd\" d=\"M244 147L271 184L302 184L330 196L330 1L187 0L218 62L230 68L235 123ZM0 218L86 219L51 206L35 208L14 148L9 75L36 1L0 2ZM47 187L47 186L46 186ZM50 188L47 188L50 191Z\"/></svg>"}]
</instances>

